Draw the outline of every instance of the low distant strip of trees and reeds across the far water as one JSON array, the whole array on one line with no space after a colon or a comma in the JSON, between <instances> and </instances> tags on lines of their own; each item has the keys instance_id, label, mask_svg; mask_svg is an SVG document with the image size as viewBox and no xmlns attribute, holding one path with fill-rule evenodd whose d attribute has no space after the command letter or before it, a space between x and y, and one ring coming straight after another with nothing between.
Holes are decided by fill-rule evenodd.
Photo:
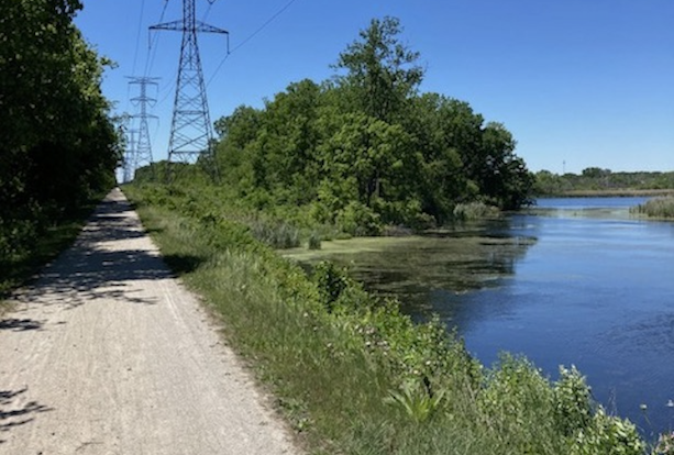
<instances>
[{"instance_id":1,"label":"low distant strip of trees and reeds across the far water","mask_svg":"<svg viewBox=\"0 0 674 455\"><path fill-rule=\"evenodd\" d=\"M541 170L533 188L538 196L666 193L674 192L674 171L614 173L588 167L581 174L557 175Z\"/></svg>"}]
</instances>

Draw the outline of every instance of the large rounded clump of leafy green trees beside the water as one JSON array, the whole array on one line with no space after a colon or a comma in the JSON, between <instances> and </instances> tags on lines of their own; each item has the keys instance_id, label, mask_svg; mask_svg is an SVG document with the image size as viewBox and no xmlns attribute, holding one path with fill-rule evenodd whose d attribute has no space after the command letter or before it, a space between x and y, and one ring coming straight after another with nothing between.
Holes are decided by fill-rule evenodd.
<instances>
[{"instance_id":1,"label":"large rounded clump of leafy green trees beside the water","mask_svg":"<svg viewBox=\"0 0 674 455\"><path fill-rule=\"evenodd\" d=\"M533 176L512 134L467 102L419 92L419 54L400 31L396 19L373 20L332 79L290 84L264 108L218 120L220 185L258 210L299 208L362 234L441 224L471 202L526 203Z\"/></svg>"}]
</instances>

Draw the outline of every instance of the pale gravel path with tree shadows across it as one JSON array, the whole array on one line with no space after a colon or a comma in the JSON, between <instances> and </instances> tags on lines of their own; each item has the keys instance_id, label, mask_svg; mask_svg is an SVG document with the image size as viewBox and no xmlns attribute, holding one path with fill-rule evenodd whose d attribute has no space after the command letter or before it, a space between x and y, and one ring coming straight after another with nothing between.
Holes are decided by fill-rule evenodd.
<instances>
[{"instance_id":1,"label":"pale gravel path with tree shadows across it","mask_svg":"<svg viewBox=\"0 0 674 455\"><path fill-rule=\"evenodd\" d=\"M0 318L0 454L295 454L119 189Z\"/></svg>"}]
</instances>

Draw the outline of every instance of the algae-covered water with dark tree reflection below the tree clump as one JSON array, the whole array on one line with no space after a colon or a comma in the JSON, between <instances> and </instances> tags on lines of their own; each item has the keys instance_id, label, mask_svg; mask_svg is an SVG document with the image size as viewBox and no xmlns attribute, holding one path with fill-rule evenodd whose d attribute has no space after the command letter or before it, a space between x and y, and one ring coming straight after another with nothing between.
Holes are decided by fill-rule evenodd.
<instances>
[{"instance_id":1,"label":"algae-covered water with dark tree reflection below the tree clump","mask_svg":"<svg viewBox=\"0 0 674 455\"><path fill-rule=\"evenodd\" d=\"M462 301L469 291L498 288L515 274L517 262L535 244L535 236L513 225L517 222L493 220L424 236L329 242L320 252L294 256L309 264L329 258L347 267L369 290L399 297L404 311L416 319L440 313L469 321L473 318L462 317L455 302L445 300L455 296ZM449 297L439 297L445 293Z\"/></svg>"}]
</instances>

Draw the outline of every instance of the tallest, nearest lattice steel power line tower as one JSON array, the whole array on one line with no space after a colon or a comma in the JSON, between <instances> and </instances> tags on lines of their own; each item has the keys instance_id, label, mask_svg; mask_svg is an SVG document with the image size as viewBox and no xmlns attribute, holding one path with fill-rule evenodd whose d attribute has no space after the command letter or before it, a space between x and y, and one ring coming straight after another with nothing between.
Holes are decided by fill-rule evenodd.
<instances>
[{"instance_id":1,"label":"tallest, nearest lattice steel power line tower","mask_svg":"<svg viewBox=\"0 0 674 455\"><path fill-rule=\"evenodd\" d=\"M213 137L197 34L229 32L197 21L195 0L183 0L183 20L153 25L150 30L183 32L168 162L195 163L202 154L211 155Z\"/></svg>"}]
</instances>

